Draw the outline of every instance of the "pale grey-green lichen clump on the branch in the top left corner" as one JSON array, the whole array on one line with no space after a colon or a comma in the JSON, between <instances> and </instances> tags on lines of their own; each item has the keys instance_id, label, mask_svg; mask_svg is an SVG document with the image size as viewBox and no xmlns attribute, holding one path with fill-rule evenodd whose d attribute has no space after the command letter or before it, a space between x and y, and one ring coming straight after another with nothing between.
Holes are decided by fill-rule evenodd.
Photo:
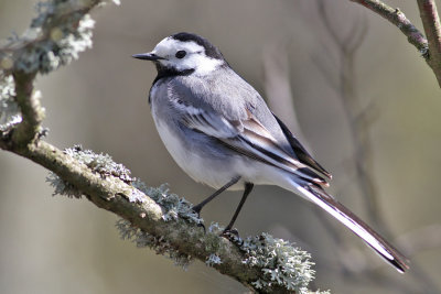
<instances>
[{"instance_id":1,"label":"pale grey-green lichen clump on the branch in the top left corner","mask_svg":"<svg viewBox=\"0 0 441 294\"><path fill-rule=\"evenodd\" d=\"M78 58L92 47L95 21L88 10L106 1L52 0L35 6L37 15L21 35L13 34L0 48L0 67L47 74ZM119 4L119 0L114 0ZM8 66L6 66L8 65Z\"/></svg>"}]
</instances>

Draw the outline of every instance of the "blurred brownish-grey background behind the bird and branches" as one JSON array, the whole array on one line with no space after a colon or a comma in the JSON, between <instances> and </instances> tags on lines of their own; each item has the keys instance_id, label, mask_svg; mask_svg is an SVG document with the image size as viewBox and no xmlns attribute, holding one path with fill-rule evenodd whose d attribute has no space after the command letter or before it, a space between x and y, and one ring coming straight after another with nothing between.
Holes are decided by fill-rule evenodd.
<instances>
[{"instance_id":1,"label":"blurred brownish-grey background behind the bird and branches","mask_svg":"<svg viewBox=\"0 0 441 294\"><path fill-rule=\"evenodd\" d=\"M28 28L36 1L0 0L0 39ZM419 28L416 3L388 1ZM441 7L440 2L437 2ZM201 34L256 87L334 178L329 189L411 260L400 275L313 205L255 188L236 227L312 253L312 287L332 293L440 293L441 91L399 30L347 0L122 1L93 11L94 47L40 76L47 141L80 143L148 185L198 203L213 190L173 162L147 102L153 65L136 61L163 37ZM294 111L295 109L295 111ZM47 172L0 152L1 293L245 293L202 262L186 271L119 238L117 217L52 197ZM239 193L203 210L227 224Z\"/></svg>"}]
</instances>

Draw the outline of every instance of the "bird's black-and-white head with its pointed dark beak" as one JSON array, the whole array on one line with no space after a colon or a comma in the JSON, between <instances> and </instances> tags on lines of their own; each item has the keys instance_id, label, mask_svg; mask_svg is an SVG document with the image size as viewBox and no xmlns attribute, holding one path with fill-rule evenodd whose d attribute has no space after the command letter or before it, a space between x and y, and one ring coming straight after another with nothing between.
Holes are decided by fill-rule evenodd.
<instances>
[{"instance_id":1,"label":"bird's black-and-white head with its pointed dark beak","mask_svg":"<svg viewBox=\"0 0 441 294\"><path fill-rule=\"evenodd\" d=\"M133 57L155 63L159 74L207 75L227 64L217 47L192 33L168 36L152 52L135 54Z\"/></svg>"}]
</instances>

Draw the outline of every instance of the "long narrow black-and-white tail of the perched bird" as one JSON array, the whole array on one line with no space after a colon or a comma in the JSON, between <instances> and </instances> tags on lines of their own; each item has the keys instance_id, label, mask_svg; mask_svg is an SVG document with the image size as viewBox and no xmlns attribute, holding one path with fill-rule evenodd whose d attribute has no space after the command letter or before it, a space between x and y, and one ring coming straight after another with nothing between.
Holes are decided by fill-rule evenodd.
<instances>
[{"instance_id":1,"label":"long narrow black-and-white tail of the perched bird","mask_svg":"<svg viewBox=\"0 0 441 294\"><path fill-rule=\"evenodd\" d=\"M367 246L376 251L381 258L391 264L398 272L404 273L409 269L409 260L397 249L389 244L381 236L367 226L362 219L354 215L348 208L338 203L334 197L314 185L301 186L293 183L297 189L343 225L359 236Z\"/></svg>"}]
</instances>

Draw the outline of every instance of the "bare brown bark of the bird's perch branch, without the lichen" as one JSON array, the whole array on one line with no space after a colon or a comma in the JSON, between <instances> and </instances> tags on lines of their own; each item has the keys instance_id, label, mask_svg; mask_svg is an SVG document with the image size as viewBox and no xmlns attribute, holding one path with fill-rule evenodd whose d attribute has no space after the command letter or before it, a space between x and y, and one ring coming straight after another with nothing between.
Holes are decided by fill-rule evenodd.
<instances>
[{"instance_id":1,"label":"bare brown bark of the bird's perch branch, without the lichen","mask_svg":"<svg viewBox=\"0 0 441 294\"><path fill-rule=\"evenodd\" d=\"M197 224L191 224L182 218L176 221L165 221L160 205L120 178L104 177L99 173L94 173L87 165L44 141L28 146L28 149L12 148L9 151L54 172L64 182L85 194L96 206L115 213L158 239L163 238L173 250L203 262L208 260L211 254L216 254L222 263L213 264L213 268L250 288L254 288L251 283L263 274L261 269L244 263L247 253L227 239L213 232L204 233Z\"/></svg>"}]
</instances>

